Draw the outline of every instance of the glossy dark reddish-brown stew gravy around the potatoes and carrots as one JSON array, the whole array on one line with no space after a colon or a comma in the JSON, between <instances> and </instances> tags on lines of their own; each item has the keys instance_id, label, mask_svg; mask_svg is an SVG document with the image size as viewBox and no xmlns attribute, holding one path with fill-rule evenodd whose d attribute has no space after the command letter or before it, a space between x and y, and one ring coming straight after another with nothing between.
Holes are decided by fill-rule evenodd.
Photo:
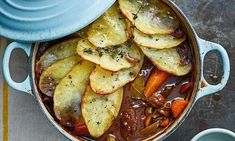
<instances>
[{"instance_id":1,"label":"glossy dark reddish-brown stew gravy around the potatoes and carrots","mask_svg":"<svg viewBox=\"0 0 235 141\"><path fill-rule=\"evenodd\" d=\"M76 36L75 36L76 37ZM48 49L51 45L61 42L67 39L74 38L74 36L71 36L69 38L61 39L59 41L52 41L52 42L46 42L46 43L41 43L39 50L37 52L37 59L36 61L39 60L40 56L45 52L46 49ZM188 50L189 51L189 50ZM182 50L179 52L183 52ZM182 54L184 55L183 58L188 58L188 56L185 56L186 53ZM189 53L191 54L191 53ZM191 61L191 60L187 60ZM145 58L144 65L139 73L139 76L144 76L144 83L146 83L151 71L154 69L154 65L147 59ZM37 76L37 82L39 81L40 77L40 72L36 71L36 76ZM192 92L192 87L187 90L187 93L180 94L180 88L182 87L183 84L185 83L194 83L192 74L188 74L186 76L181 76L181 77L176 77L176 76L170 76L162 85L161 87L156 91L156 93L159 93L163 95L167 103L171 103L175 99L190 99L191 97L191 92ZM169 115L169 124L167 127L158 127L155 131L152 133L143 135L140 133L142 129L145 128L144 125L144 119L146 119L145 111L148 107L151 107L151 104L149 104L148 101L146 100L141 100L141 99L134 99L131 98L131 92L130 92L130 87L131 83L127 84L124 86L124 97L123 97L123 102L122 106L119 112L119 115L117 118L113 121L112 126L110 129L102 135L100 138L97 138L96 140L102 141L106 140L108 136L114 136L117 141L122 141L122 140L142 140L148 136L151 136L156 133L162 133L164 130L167 129L168 126L170 126L175 118L172 116L172 114ZM59 121L54 114L53 111L53 99L51 97L48 97L41 93L42 101L45 104L47 110L51 113L51 115L54 117L54 119L61 123L62 121ZM157 109L155 109L157 110ZM128 117L125 117L128 116ZM159 116L159 119L161 120L164 118L164 116ZM124 124L128 123L129 127L125 127ZM64 125L64 123L63 123ZM62 126L65 130L67 130L69 133L71 133L74 136L78 136L76 132L74 132L74 127L72 123L66 123L67 126ZM89 135L85 135L89 136Z\"/></svg>"}]
</instances>

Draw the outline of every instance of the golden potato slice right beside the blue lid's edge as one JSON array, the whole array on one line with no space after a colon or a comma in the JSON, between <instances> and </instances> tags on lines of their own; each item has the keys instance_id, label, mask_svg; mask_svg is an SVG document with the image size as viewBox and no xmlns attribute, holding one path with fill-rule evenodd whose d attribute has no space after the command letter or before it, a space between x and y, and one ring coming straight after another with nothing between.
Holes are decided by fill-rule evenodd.
<instances>
[{"instance_id":1,"label":"golden potato slice right beside the blue lid's edge","mask_svg":"<svg viewBox=\"0 0 235 141\"><path fill-rule=\"evenodd\" d=\"M96 20L89 28L89 41L97 47L108 47L127 41L125 20L120 14L117 4Z\"/></svg>"}]
</instances>

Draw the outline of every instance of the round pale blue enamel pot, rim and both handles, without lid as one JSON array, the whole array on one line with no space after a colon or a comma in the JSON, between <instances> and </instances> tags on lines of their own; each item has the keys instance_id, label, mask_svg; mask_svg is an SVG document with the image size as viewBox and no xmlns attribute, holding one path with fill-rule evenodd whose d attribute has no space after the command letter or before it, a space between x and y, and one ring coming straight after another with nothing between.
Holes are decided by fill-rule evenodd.
<instances>
[{"instance_id":1,"label":"round pale blue enamel pot, rim and both handles, without lid","mask_svg":"<svg viewBox=\"0 0 235 141\"><path fill-rule=\"evenodd\" d=\"M196 101L198 101L201 97L213 94L215 92L220 91L223 89L229 79L229 74L230 74L230 63L229 63L229 57L226 52L226 50L219 44L212 43L209 41L205 41L197 36L195 33L193 27L191 26L190 22L186 18L186 16L182 13L182 11L170 0L163 0L168 6L170 6L175 13L178 15L180 18L181 22L183 23L183 26L185 30L187 31L187 36L189 38L189 41L191 43L191 48L193 51L193 56L194 56L194 80L195 80L195 85L193 89L193 94L190 99L190 102L184 111L182 113L182 116L178 118L174 124L172 124L167 130L164 132L157 133L151 137L146 138L146 140L163 140L167 136L169 136L172 132L174 132L180 125L181 123L185 120L189 112L191 111L193 105L195 104ZM96 9L94 9L96 10ZM64 30L66 30L67 27L64 27ZM51 31L53 32L53 31ZM55 39L55 38L54 38ZM67 133L61 126L55 122L53 117L49 114L47 111L46 107L44 106L41 98L39 91L36 87L36 82L35 82L35 55L38 51L38 46L40 43L20 43L20 42L13 42L11 43L5 50L4 57L3 57L3 75L5 80L7 81L8 85L11 86L12 88L28 93L35 97L35 99L38 101L39 105L42 108L42 111L44 114L47 116L49 121L55 126L55 128L60 131L62 134L64 134L68 139L76 141L76 140L87 140L86 138L79 137L75 138L74 136L70 135ZM9 61L10 61L10 56L11 53L14 49L20 48L24 50L27 55L29 56L29 75L28 77L21 83L14 82L11 79L10 72L9 72ZM203 61L205 55L210 52L210 51L218 51L220 54L220 57L223 62L223 77L222 80L219 84L217 85L210 85L207 83L203 77ZM205 87L201 88L201 83L204 81Z\"/></svg>"}]
</instances>

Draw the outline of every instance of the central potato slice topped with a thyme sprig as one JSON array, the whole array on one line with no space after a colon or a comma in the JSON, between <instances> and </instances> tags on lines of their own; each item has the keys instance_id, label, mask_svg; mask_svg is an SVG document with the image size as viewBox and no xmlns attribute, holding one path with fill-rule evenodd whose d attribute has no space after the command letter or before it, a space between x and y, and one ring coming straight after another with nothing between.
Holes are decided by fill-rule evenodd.
<instances>
[{"instance_id":1,"label":"central potato slice topped with a thyme sprig","mask_svg":"<svg viewBox=\"0 0 235 141\"><path fill-rule=\"evenodd\" d=\"M136 65L141 52L134 44L126 42L111 48L97 48L87 39L78 42L77 53L110 71L119 71Z\"/></svg>"}]
</instances>

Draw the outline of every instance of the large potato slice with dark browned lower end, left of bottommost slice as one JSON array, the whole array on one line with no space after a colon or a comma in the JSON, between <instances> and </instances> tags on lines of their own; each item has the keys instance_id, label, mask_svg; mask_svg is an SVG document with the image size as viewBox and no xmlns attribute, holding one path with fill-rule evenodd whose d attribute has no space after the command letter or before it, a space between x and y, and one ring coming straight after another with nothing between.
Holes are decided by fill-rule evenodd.
<instances>
[{"instance_id":1,"label":"large potato slice with dark browned lower end, left of bottommost slice","mask_svg":"<svg viewBox=\"0 0 235 141\"><path fill-rule=\"evenodd\" d=\"M80 122L80 102L95 65L89 61L78 63L57 85L54 93L54 112L63 122Z\"/></svg>"}]
</instances>

